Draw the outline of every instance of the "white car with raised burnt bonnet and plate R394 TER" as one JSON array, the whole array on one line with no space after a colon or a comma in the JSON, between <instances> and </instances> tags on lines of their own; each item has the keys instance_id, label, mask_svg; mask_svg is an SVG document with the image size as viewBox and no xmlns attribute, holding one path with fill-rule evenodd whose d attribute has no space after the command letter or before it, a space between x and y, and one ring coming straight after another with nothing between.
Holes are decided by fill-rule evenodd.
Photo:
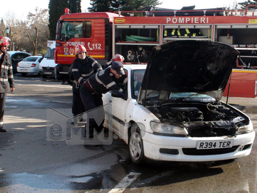
<instances>
[{"instance_id":1,"label":"white car with raised burnt bonnet and plate R394 TER","mask_svg":"<svg viewBox=\"0 0 257 193\"><path fill-rule=\"evenodd\" d=\"M128 144L134 163L250 154L251 120L221 101L237 55L227 44L185 40L156 46L147 67L124 65L127 95L108 92L103 103L112 104L112 112L105 112L112 118L109 129Z\"/></svg>"}]
</instances>

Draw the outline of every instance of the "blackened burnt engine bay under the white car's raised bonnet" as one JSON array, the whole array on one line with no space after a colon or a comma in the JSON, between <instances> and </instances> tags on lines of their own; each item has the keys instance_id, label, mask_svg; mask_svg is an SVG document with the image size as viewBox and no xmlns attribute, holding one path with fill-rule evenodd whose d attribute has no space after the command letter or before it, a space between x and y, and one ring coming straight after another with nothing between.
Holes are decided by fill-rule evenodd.
<instances>
[{"instance_id":1,"label":"blackened burnt engine bay under the white car's raised bonnet","mask_svg":"<svg viewBox=\"0 0 257 193\"><path fill-rule=\"evenodd\" d=\"M163 124L179 124L191 137L234 136L249 118L225 104L163 104L148 108Z\"/></svg>"}]
</instances>

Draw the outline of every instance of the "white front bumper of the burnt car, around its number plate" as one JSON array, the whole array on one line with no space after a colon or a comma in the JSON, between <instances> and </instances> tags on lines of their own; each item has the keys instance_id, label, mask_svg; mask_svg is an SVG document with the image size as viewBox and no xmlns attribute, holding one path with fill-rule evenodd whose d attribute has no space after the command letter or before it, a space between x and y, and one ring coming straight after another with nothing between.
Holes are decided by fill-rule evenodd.
<instances>
[{"instance_id":1,"label":"white front bumper of the burnt car, around its number plate","mask_svg":"<svg viewBox=\"0 0 257 193\"><path fill-rule=\"evenodd\" d=\"M152 160L181 162L229 160L249 155L254 137L254 131L234 137L171 137L145 132L143 149L144 155ZM196 149L198 141L221 141L226 139L233 140L231 149L205 149L200 151ZM163 153L163 150L165 153Z\"/></svg>"}]
</instances>

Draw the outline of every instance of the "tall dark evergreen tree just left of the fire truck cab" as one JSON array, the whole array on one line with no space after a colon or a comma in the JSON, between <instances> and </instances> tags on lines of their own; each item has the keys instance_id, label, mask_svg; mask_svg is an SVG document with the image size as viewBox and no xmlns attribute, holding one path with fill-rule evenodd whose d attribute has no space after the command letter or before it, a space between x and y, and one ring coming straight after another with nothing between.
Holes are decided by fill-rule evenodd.
<instances>
[{"instance_id":1,"label":"tall dark evergreen tree just left of the fire truck cab","mask_svg":"<svg viewBox=\"0 0 257 193\"><path fill-rule=\"evenodd\" d=\"M80 0L79 0L80 1ZM56 39L56 26L61 15L64 14L64 9L68 7L68 0L50 0L49 1L49 39ZM76 8L77 9L77 8Z\"/></svg>"}]
</instances>

